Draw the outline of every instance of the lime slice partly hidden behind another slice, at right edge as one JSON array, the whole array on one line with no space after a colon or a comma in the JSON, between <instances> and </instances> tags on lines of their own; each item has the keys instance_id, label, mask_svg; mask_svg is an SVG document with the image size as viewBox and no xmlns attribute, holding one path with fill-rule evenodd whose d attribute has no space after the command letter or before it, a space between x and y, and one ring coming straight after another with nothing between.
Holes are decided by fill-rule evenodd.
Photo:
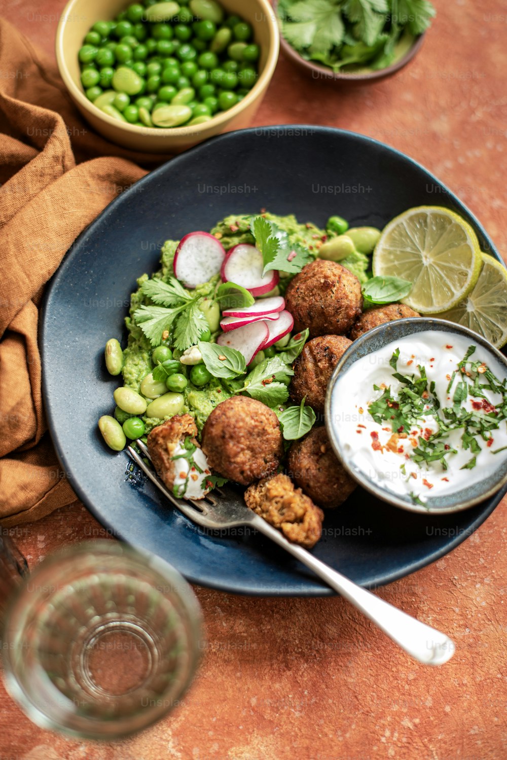
<instances>
[{"instance_id":1,"label":"lime slice partly hidden behind another slice, at right edge","mask_svg":"<svg viewBox=\"0 0 507 760\"><path fill-rule=\"evenodd\" d=\"M481 255L483 267L471 293L438 316L470 328L502 348L507 343L507 269L493 256Z\"/></svg>"}]
</instances>

